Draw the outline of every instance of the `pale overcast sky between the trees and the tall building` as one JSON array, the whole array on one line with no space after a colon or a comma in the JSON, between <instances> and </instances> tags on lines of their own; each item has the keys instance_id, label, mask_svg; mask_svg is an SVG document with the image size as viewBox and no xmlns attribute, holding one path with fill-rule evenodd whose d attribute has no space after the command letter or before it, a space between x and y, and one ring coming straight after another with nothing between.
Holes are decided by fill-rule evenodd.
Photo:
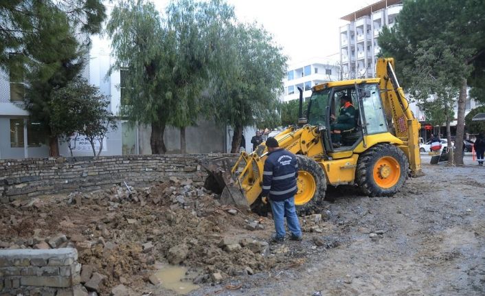
<instances>
[{"instance_id":1,"label":"pale overcast sky between the trees and the tall building","mask_svg":"<svg viewBox=\"0 0 485 296\"><path fill-rule=\"evenodd\" d=\"M241 21L257 21L283 47L289 63L339 52L340 18L378 0L227 0ZM164 10L168 0L153 0Z\"/></svg>"}]
</instances>

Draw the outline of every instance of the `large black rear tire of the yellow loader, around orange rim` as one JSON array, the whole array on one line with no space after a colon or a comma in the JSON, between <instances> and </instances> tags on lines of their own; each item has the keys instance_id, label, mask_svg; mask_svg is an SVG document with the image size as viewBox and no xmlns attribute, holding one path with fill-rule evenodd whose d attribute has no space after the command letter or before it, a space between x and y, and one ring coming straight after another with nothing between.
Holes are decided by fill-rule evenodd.
<instances>
[{"instance_id":1,"label":"large black rear tire of the yellow loader, around orange rim","mask_svg":"<svg viewBox=\"0 0 485 296\"><path fill-rule=\"evenodd\" d=\"M376 163L383 159L383 157L390 157L399 164L398 180L392 187L381 187L376 180L374 180L374 168ZM392 170L391 167L387 167ZM369 148L357 161L357 171L355 179L363 194L368 196L392 196L398 192L407 179L409 172L409 162L404 152L392 144L378 144ZM394 171L395 173L395 171ZM396 177L397 179L397 177Z\"/></svg>"}]
</instances>

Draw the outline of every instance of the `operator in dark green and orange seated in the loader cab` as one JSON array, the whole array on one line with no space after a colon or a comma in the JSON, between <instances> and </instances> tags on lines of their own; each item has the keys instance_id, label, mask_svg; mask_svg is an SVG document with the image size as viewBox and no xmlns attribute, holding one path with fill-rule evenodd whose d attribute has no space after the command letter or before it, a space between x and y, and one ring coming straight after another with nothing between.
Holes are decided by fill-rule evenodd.
<instances>
[{"instance_id":1,"label":"operator in dark green and orange seated in the loader cab","mask_svg":"<svg viewBox=\"0 0 485 296\"><path fill-rule=\"evenodd\" d=\"M341 138L343 130L352 130L356 127L355 122L355 107L350 102L348 95L342 95L340 97L340 111L339 116L334 114L330 115L332 124L330 124L330 133L332 134L332 144L335 148L341 146ZM335 122L337 121L337 122Z\"/></svg>"}]
</instances>

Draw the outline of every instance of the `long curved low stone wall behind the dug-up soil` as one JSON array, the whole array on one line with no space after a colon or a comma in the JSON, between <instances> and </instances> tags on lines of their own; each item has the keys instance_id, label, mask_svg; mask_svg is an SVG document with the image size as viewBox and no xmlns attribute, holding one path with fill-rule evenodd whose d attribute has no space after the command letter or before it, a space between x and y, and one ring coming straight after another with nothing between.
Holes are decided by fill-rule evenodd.
<instances>
[{"instance_id":1,"label":"long curved low stone wall behind the dug-up soil","mask_svg":"<svg viewBox=\"0 0 485 296\"><path fill-rule=\"evenodd\" d=\"M199 165L199 159L221 156L237 157L206 154L0 159L0 202L98 189L122 181L134 187L165 181L172 176L200 182L207 173Z\"/></svg>"}]
</instances>

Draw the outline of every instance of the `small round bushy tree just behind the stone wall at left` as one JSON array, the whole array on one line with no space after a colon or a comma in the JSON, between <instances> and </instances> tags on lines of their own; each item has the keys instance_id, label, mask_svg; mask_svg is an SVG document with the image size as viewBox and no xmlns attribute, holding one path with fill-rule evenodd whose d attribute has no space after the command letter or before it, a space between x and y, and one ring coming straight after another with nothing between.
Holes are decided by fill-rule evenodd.
<instances>
[{"instance_id":1,"label":"small round bushy tree just behind the stone wall at left","mask_svg":"<svg viewBox=\"0 0 485 296\"><path fill-rule=\"evenodd\" d=\"M85 135L93 148L94 156L100 155L102 140L109 128L117 128L115 119L107 111L109 100L102 95L98 87L89 85L84 78L76 78L66 87L56 88L49 102L51 110L49 126L54 135L66 141L71 151L71 137L74 140ZM96 154L95 141L100 141L100 150Z\"/></svg>"}]
</instances>

